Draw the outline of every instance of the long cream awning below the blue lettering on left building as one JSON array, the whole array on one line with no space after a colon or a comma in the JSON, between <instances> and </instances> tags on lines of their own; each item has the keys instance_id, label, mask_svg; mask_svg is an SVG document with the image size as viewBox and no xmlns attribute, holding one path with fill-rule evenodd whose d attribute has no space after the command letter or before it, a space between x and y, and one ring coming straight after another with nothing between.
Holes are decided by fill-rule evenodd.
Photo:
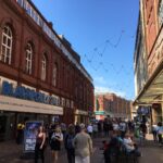
<instances>
[{"instance_id":1,"label":"long cream awning below the blue lettering on left building","mask_svg":"<svg viewBox=\"0 0 163 163\"><path fill-rule=\"evenodd\" d=\"M63 108L0 96L0 111L63 115Z\"/></svg>"}]
</instances>

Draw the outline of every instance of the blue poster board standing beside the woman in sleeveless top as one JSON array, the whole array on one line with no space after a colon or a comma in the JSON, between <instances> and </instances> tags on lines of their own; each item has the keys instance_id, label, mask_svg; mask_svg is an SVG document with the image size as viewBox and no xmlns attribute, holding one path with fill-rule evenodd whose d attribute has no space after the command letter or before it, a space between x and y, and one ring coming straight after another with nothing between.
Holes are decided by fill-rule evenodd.
<instances>
[{"instance_id":1,"label":"blue poster board standing beside the woman in sleeveless top","mask_svg":"<svg viewBox=\"0 0 163 163\"><path fill-rule=\"evenodd\" d=\"M43 125L42 121L29 121L25 124L24 130L24 152L34 152L36 145L36 136L39 126Z\"/></svg>"}]
</instances>

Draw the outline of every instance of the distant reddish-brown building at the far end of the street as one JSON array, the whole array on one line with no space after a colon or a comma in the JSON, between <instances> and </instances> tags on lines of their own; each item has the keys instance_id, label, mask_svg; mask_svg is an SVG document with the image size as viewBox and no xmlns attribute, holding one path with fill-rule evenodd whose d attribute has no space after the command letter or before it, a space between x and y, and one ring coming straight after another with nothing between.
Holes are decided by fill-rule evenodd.
<instances>
[{"instance_id":1,"label":"distant reddish-brown building at the far end of the street","mask_svg":"<svg viewBox=\"0 0 163 163\"><path fill-rule=\"evenodd\" d=\"M131 101L123 99L115 93L100 93L95 96L95 114L97 120L106 116L131 118Z\"/></svg>"}]
</instances>

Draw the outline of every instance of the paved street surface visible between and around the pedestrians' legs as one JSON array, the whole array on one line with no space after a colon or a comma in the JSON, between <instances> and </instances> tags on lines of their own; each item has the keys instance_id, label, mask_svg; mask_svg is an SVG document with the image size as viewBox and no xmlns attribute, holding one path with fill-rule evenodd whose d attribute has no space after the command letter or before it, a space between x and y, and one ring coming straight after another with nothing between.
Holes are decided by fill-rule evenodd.
<instances>
[{"instance_id":1,"label":"paved street surface visible between and around the pedestrians' legs","mask_svg":"<svg viewBox=\"0 0 163 163\"><path fill-rule=\"evenodd\" d=\"M103 139L93 139L93 154L91 156L91 163L104 163L102 151L100 150ZM22 160L22 146L15 145L13 141L0 142L0 163L34 163L34 160ZM160 148L151 140L151 136L148 136L148 140L145 146L140 147L142 158L140 163L163 163L163 147ZM51 153L49 147L46 150L46 163L52 163ZM60 153L58 163L67 163L66 152L64 148Z\"/></svg>"}]
</instances>

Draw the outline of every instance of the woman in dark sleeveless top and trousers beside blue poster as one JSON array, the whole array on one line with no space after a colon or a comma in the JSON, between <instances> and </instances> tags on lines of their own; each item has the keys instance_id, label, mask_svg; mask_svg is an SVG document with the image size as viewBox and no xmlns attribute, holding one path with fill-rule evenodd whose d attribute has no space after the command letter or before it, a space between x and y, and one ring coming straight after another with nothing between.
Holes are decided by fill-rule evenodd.
<instances>
[{"instance_id":1,"label":"woman in dark sleeveless top and trousers beside blue poster","mask_svg":"<svg viewBox=\"0 0 163 163\"><path fill-rule=\"evenodd\" d=\"M41 162L45 163L45 143L46 143L46 131L45 127L40 126L38 129L38 134L36 136L36 146L35 146L35 163L38 162L38 158L40 154Z\"/></svg>"}]
</instances>

